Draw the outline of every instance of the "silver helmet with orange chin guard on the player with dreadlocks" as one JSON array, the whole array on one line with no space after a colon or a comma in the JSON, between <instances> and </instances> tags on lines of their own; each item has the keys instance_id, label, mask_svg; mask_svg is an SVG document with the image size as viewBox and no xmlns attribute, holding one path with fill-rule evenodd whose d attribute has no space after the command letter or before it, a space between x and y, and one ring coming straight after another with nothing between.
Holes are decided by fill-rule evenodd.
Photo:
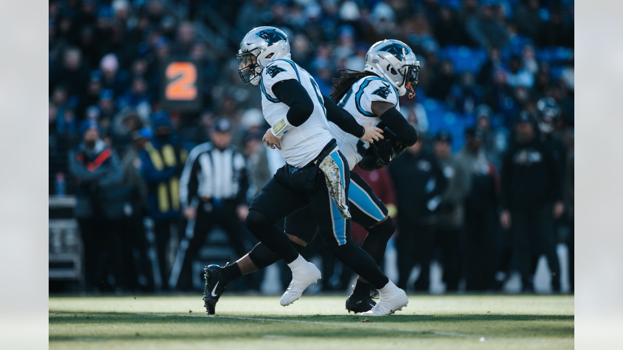
<instances>
[{"instance_id":1,"label":"silver helmet with orange chin guard on the player with dreadlocks","mask_svg":"<svg viewBox=\"0 0 623 350\"><path fill-rule=\"evenodd\" d=\"M409 45L400 40L386 39L372 45L366 54L364 70L388 80L400 96L408 93L413 98L416 94L420 61Z\"/></svg>"}]
</instances>

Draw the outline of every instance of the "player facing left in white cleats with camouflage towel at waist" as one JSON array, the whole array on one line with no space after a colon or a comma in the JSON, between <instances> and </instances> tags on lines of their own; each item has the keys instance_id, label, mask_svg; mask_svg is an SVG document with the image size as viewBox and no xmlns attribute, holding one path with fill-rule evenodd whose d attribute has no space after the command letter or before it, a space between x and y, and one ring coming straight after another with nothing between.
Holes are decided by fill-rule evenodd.
<instances>
[{"instance_id":1,"label":"player facing left in white cleats with camouflage towel at waist","mask_svg":"<svg viewBox=\"0 0 623 350\"><path fill-rule=\"evenodd\" d=\"M348 206L350 166L329 132L326 99L313 77L290 60L287 35L275 27L252 29L240 42L237 58L240 78L245 83L260 85L262 90L262 111L271 126L263 140L280 149L286 161L252 201L247 216L247 227L262 242L262 250L272 251L292 270L292 281L281 305L293 303L320 278L320 270L298 253L303 245L288 239L275 225L283 217L308 207L331 253L379 291L375 315L401 310L408 303L406 293L353 243ZM364 128L358 129L354 133L364 137ZM261 257L263 252L256 248L248 256L260 266L262 263L254 257ZM212 272L220 278L211 278ZM208 313L210 304L214 312L227 280L241 274L238 262L216 271L207 268L204 301ZM219 281L211 283L210 279L224 283L219 288Z\"/></svg>"}]
</instances>

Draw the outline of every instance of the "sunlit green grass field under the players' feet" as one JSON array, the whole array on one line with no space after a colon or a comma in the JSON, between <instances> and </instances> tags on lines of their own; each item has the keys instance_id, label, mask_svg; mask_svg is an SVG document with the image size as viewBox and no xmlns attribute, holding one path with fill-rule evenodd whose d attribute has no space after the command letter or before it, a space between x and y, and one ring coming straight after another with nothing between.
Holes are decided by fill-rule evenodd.
<instances>
[{"instance_id":1,"label":"sunlit green grass field under the players' feet","mask_svg":"<svg viewBox=\"0 0 623 350\"><path fill-rule=\"evenodd\" d=\"M392 316L346 296L50 297L50 349L572 349L573 296L411 295Z\"/></svg>"}]
</instances>

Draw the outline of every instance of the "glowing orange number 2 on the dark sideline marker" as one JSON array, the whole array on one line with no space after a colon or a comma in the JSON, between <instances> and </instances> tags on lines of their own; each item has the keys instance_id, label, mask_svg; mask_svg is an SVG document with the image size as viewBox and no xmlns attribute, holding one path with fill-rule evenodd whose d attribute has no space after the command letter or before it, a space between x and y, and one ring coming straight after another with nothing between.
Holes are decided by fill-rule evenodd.
<instances>
[{"instance_id":1,"label":"glowing orange number 2 on the dark sideline marker","mask_svg":"<svg viewBox=\"0 0 623 350\"><path fill-rule=\"evenodd\" d=\"M194 100L197 98L197 69L190 62L173 62L166 67L166 98Z\"/></svg>"}]
</instances>

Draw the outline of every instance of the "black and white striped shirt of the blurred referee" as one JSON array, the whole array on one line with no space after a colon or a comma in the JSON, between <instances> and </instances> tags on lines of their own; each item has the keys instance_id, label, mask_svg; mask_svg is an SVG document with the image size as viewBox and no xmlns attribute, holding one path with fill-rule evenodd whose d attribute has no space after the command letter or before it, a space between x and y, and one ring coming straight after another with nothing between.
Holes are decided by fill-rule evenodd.
<instances>
[{"instance_id":1,"label":"black and white striped shirt of the blurred referee","mask_svg":"<svg viewBox=\"0 0 623 350\"><path fill-rule=\"evenodd\" d=\"M196 199L235 199L247 204L250 192L248 162L235 146L223 151L211 142L199 144L188 156L179 179L182 206Z\"/></svg>"}]
</instances>

